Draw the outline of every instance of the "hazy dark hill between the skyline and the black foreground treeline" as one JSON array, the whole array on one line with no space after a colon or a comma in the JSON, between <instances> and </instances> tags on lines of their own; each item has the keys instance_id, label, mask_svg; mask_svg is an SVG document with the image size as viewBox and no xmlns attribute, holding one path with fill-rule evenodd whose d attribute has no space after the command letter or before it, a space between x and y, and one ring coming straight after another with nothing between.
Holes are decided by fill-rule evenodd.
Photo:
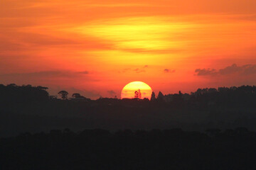
<instances>
[{"instance_id":1,"label":"hazy dark hill between the skyline and the black foreground treeline","mask_svg":"<svg viewBox=\"0 0 256 170\"><path fill-rule=\"evenodd\" d=\"M43 86L0 85L0 137L51 129L151 130L245 127L256 130L256 87L198 89L154 100L49 96ZM159 93L160 94L160 93Z\"/></svg>"}]
</instances>

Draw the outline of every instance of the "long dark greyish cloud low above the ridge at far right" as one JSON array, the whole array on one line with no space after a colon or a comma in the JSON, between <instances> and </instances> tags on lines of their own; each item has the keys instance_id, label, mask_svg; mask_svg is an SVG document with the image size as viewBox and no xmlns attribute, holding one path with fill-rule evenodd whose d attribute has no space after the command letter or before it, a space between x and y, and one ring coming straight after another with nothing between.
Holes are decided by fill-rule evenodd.
<instances>
[{"instance_id":1,"label":"long dark greyish cloud low above the ridge at far right","mask_svg":"<svg viewBox=\"0 0 256 170\"><path fill-rule=\"evenodd\" d=\"M246 64L238 66L237 64L232 64L231 66L225 67L223 69L196 69L197 76L213 76L213 75L228 75L228 74L240 74L240 75L250 75L256 74L256 64Z\"/></svg>"}]
</instances>

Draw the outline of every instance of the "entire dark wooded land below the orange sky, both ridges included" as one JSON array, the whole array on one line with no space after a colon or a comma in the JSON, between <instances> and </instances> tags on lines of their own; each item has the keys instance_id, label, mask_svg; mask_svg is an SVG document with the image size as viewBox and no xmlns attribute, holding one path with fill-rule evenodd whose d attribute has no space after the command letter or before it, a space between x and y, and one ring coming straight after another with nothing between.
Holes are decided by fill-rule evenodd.
<instances>
[{"instance_id":1,"label":"entire dark wooded land below the orange sky, both ridges included","mask_svg":"<svg viewBox=\"0 0 256 170\"><path fill-rule=\"evenodd\" d=\"M255 169L256 86L98 98L0 85L0 169Z\"/></svg>"}]
</instances>

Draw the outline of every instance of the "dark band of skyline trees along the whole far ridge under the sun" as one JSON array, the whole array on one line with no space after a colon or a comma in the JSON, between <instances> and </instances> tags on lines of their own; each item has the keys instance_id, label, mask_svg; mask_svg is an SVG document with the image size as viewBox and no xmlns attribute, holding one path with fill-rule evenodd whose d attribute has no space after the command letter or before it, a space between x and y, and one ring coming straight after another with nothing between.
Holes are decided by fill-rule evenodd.
<instances>
[{"instance_id":1,"label":"dark band of skyline trees along the whole far ridge under the sun","mask_svg":"<svg viewBox=\"0 0 256 170\"><path fill-rule=\"evenodd\" d=\"M96 101L90 100L80 94L72 94L68 97L68 91L60 91L58 96L49 96L46 91L48 88L43 86L31 86L23 85L16 86L16 84L9 84L4 86L0 84L0 102L1 103L23 103L23 102L46 102L46 101L86 101L91 103L102 103L108 105L119 105L119 104L134 104L138 102L145 103L151 101L151 103L158 103L161 106L173 106L173 107L184 107L184 106L256 106L256 86L232 86L219 87L218 89L206 88L198 89L191 94L183 94L181 91L178 94L162 94L161 91L156 96L154 92L151 98L134 98L122 100L117 98L98 98Z\"/></svg>"}]
</instances>

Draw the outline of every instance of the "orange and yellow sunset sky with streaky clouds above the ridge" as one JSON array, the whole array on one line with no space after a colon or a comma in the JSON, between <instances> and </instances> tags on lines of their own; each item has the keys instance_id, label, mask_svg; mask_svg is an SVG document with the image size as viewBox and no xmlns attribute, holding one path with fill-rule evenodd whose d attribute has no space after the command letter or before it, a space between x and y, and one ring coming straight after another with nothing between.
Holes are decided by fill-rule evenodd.
<instances>
[{"instance_id":1,"label":"orange and yellow sunset sky with streaky clouds above the ridge","mask_svg":"<svg viewBox=\"0 0 256 170\"><path fill-rule=\"evenodd\" d=\"M120 98L256 84L255 0L1 0L0 84Z\"/></svg>"}]
</instances>

